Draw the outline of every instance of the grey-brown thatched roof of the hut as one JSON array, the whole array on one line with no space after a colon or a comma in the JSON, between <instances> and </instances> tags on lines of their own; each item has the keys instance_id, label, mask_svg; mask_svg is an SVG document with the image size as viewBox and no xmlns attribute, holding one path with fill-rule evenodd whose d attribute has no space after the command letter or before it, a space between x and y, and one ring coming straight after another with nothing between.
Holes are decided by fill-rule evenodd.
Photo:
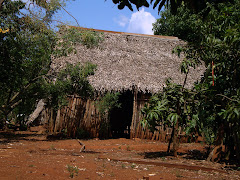
<instances>
[{"instance_id":1,"label":"grey-brown thatched roof of the hut","mask_svg":"<svg viewBox=\"0 0 240 180\"><path fill-rule=\"evenodd\" d=\"M98 31L98 30L95 30ZM103 31L104 40L99 47L88 49L77 46L77 54L55 59L53 69L62 68L66 62L97 64L95 74L89 77L97 91L123 91L137 87L139 91L161 91L167 78L183 84L185 74L180 72L181 59L172 50L183 41L176 37L141 35ZM190 70L186 88L200 79L205 68Z\"/></svg>"}]
</instances>

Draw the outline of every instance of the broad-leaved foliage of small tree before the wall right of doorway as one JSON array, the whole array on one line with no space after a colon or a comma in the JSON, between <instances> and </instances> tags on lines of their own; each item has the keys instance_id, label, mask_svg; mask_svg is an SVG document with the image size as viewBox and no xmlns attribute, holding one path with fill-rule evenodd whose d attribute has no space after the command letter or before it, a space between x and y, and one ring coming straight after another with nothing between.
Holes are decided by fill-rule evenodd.
<instances>
[{"instance_id":1,"label":"broad-leaved foliage of small tree before the wall right of doorway","mask_svg":"<svg viewBox=\"0 0 240 180\"><path fill-rule=\"evenodd\" d=\"M166 81L166 87L157 95L151 97L149 105L142 109L142 124L155 130L157 125L173 126L177 122L186 125L191 117L191 102L189 93L181 85Z\"/></svg>"}]
</instances>

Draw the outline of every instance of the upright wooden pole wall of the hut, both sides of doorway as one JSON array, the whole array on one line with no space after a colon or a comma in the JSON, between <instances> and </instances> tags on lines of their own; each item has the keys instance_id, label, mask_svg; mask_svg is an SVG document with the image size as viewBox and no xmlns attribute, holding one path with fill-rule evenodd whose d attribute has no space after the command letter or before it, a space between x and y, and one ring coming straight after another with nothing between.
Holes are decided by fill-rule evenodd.
<instances>
[{"instance_id":1,"label":"upright wooden pole wall of the hut, both sides of doorway","mask_svg":"<svg viewBox=\"0 0 240 180\"><path fill-rule=\"evenodd\" d=\"M157 130L151 132L149 129L141 126L141 109L148 102L150 95L134 92L133 115L130 127L130 138L140 138L168 142L172 128L164 128L158 126ZM104 129L102 133L101 127L103 122L96 108L95 101L90 99L82 99L78 96L69 98L68 106L54 111L45 109L43 112L47 121L49 133L64 132L69 137L76 137L79 130L87 132L91 138L109 138L111 132L109 129ZM189 141L189 136L186 136L182 130L179 130L181 142Z\"/></svg>"}]
</instances>

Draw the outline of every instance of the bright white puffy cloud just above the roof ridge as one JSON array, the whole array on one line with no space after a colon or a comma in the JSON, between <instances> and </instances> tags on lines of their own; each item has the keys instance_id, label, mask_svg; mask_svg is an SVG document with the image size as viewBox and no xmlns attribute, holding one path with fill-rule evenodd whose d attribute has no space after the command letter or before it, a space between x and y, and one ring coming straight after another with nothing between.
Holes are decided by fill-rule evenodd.
<instances>
[{"instance_id":1,"label":"bright white puffy cloud just above the roof ridge","mask_svg":"<svg viewBox=\"0 0 240 180\"><path fill-rule=\"evenodd\" d=\"M151 13L144 8L132 14L127 31L130 33L153 34L152 23L156 21Z\"/></svg>"}]
</instances>

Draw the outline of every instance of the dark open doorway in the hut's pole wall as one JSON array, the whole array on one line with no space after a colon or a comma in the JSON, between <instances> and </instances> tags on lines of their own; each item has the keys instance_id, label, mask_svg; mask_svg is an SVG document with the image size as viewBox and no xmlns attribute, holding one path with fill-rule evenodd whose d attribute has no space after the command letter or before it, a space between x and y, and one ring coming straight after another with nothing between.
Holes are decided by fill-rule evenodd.
<instances>
[{"instance_id":1,"label":"dark open doorway in the hut's pole wall","mask_svg":"<svg viewBox=\"0 0 240 180\"><path fill-rule=\"evenodd\" d=\"M113 108L110 114L110 127L113 138L130 138L133 114L133 93L123 92L119 96L121 108Z\"/></svg>"}]
</instances>

